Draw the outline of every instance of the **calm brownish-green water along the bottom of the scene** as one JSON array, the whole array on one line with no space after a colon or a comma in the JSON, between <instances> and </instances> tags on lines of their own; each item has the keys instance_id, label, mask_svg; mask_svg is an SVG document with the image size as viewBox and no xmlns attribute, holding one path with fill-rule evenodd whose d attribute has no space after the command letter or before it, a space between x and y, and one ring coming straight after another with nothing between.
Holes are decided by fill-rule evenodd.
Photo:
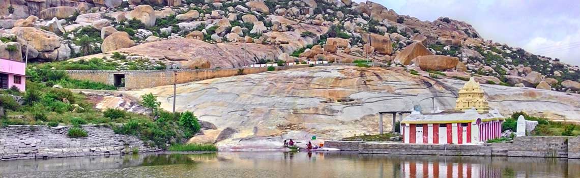
<instances>
[{"instance_id":1,"label":"calm brownish-green water along the bottom of the scene","mask_svg":"<svg viewBox=\"0 0 580 178\"><path fill-rule=\"evenodd\" d=\"M0 177L580 177L580 160L345 152L140 154L2 161Z\"/></svg>"}]
</instances>

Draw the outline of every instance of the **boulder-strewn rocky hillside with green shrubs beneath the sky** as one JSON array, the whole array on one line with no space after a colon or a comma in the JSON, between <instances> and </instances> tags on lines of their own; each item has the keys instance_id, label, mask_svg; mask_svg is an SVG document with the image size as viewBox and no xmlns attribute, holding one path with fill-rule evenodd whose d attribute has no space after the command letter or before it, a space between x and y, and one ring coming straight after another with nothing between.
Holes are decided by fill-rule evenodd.
<instances>
[{"instance_id":1,"label":"boulder-strewn rocky hillside with green shrubs beneath the sky","mask_svg":"<svg viewBox=\"0 0 580 178\"><path fill-rule=\"evenodd\" d=\"M1 2L0 57L5 58L102 57L126 63L111 58L118 52L126 60L180 68L369 59L414 70L449 71L456 78L488 76L488 83L580 90L578 66L483 39L462 21L422 21L370 1ZM102 54L91 56L97 53Z\"/></svg>"}]
</instances>

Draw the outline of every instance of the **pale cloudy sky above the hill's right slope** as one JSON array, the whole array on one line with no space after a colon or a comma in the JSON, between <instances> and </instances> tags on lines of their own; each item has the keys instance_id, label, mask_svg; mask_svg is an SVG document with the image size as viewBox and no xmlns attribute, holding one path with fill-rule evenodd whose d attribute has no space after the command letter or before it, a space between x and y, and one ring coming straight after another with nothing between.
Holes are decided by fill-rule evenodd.
<instances>
[{"instance_id":1,"label":"pale cloudy sky above the hill's right slope","mask_svg":"<svg viewBox=\"0 0 580 178\"><path fill-rule=\"evenodd\" d=\"M357 1L361 2L361 1ZM580 1L375 0L420 20L466 21L495 42L580 66Z\"/></svg>"}]
</instances>

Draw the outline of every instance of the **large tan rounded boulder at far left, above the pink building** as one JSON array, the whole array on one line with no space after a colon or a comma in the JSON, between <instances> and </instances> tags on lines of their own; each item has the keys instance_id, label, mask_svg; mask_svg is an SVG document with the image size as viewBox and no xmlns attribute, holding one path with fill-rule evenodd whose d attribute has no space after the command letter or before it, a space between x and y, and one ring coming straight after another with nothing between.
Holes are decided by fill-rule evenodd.
<instances>
[{"instance_id":1,"label":"large tan rounded boulder at far left, above the pink building","mask_svg":"<svg viewBox=\"0 0 580 178\"><path fill-rule=\"evenodd\" d=\"M31 45L38 52L52 52L60 48L60 41L62 40L53 32L39 30L34 27L14 27L12 28L12 34L26 41L28 45Z\"/></svg>"}]
</instances>

